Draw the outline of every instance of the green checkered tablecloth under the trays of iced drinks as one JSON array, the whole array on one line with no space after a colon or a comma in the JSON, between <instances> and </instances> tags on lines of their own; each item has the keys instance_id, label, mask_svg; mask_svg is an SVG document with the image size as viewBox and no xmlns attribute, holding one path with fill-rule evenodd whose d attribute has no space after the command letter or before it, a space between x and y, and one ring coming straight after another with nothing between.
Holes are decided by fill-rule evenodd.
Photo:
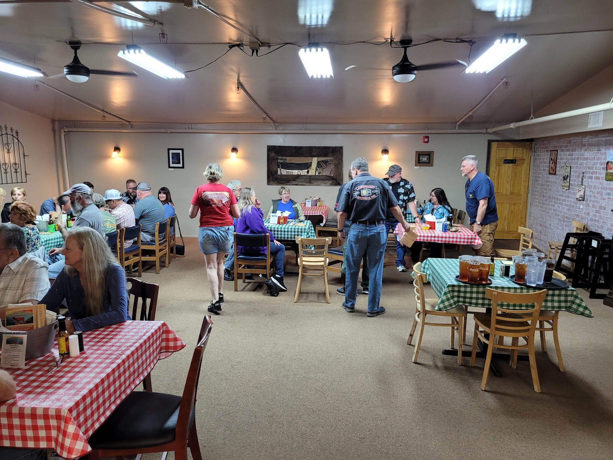
<instances>
[{"instance_id":1,"label":"green checkered tablecloth under the trays of iced drinks","mask_svg":"<svg viewBox=\"0 0 613 460\"><path fill-rule=\"evenodd\" d=\"M432 284L436 295L440 298L436 310L449 310L458 305L468 305L471 307L491 307L492 301L485 297L485 288L497 289L509 293L528 293L535 292L535 288L527 288L516 285L509 278L498 275L498 267L501 262L495 262L494 275L490 277L492 285L466 285L455 279L460 273L460 261L458 259L425 259L422 263L428 281ZM511 266L511 275L513 267ZM524 309L529 309L529 305L524 305ZM511 310L522 310L522 305L506 305L505 308ZM585 305L585 302L577 294L577 291L570 286L566 289L552 289L547 293L543 302L543 310L565 310L576 315L592 318L592 312Z\"/></svg>"}]
</instances>

